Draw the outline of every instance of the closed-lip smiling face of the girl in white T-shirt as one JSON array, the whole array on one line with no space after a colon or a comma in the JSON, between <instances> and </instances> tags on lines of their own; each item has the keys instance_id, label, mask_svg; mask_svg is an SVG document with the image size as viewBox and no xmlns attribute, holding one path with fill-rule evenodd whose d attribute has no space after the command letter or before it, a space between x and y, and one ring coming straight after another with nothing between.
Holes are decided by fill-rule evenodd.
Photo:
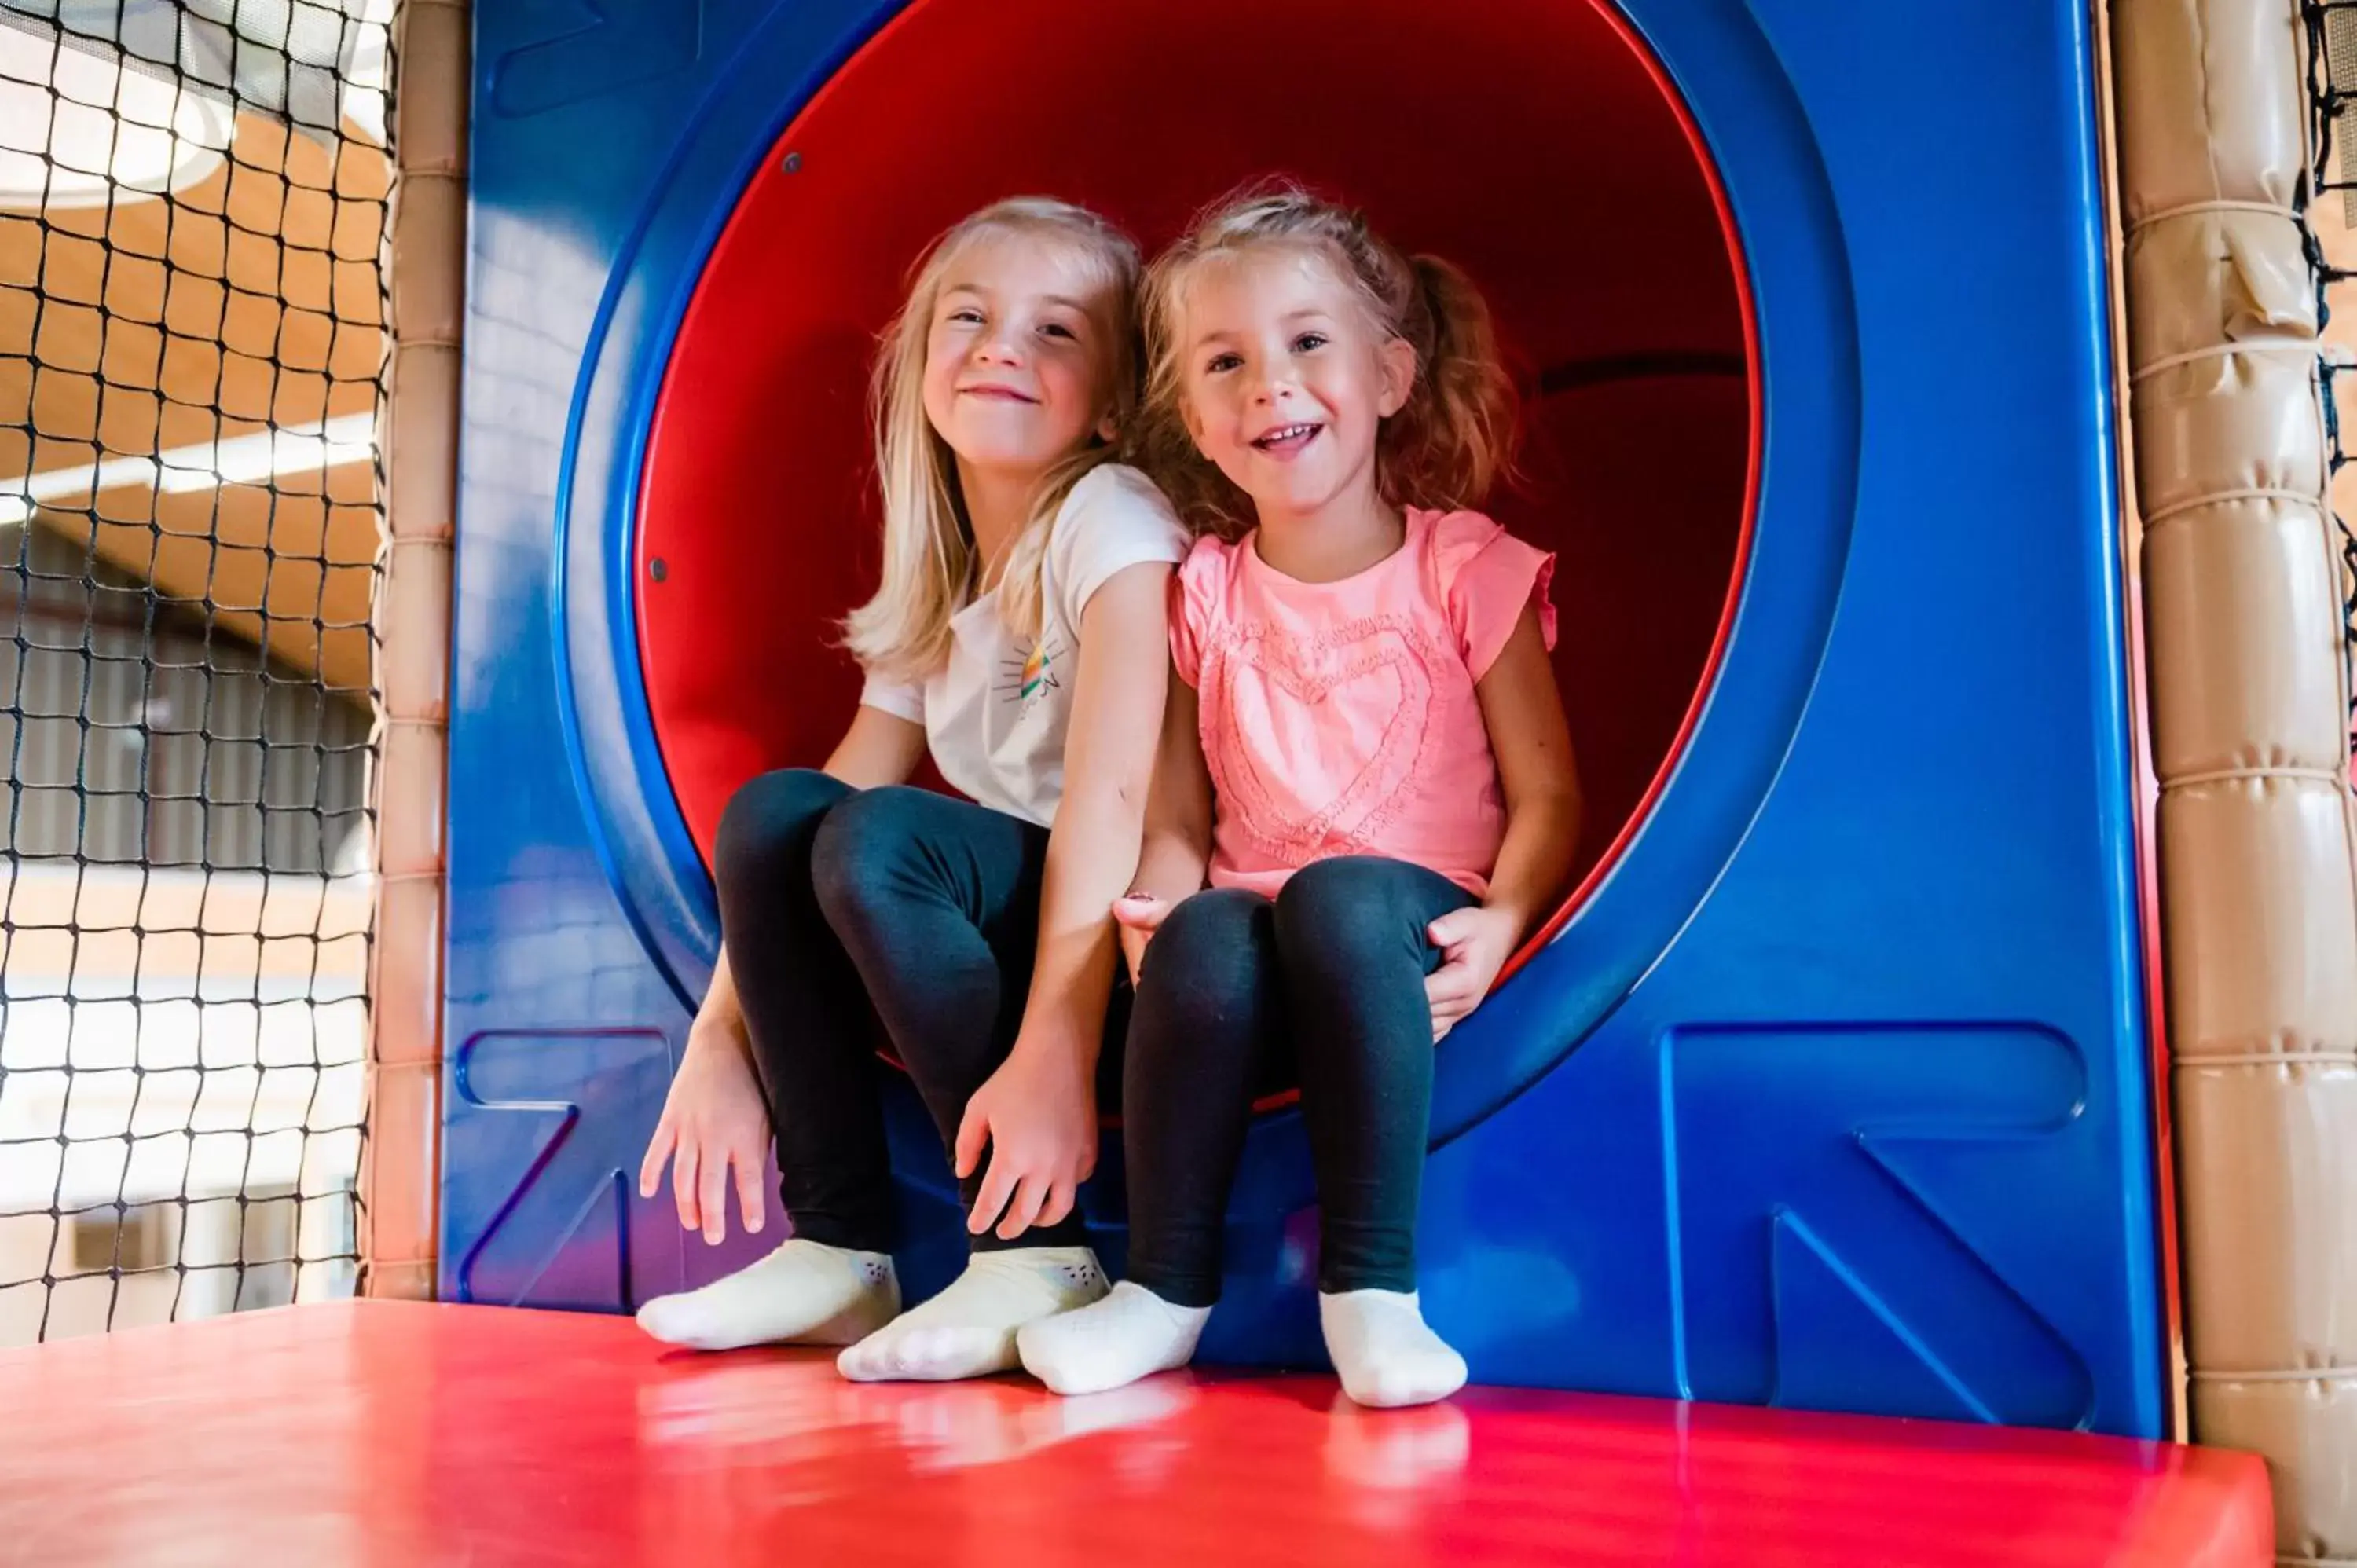
<instances>
[{"instance_id":1,"label":"closed-lip smiling face of the girl in white T-shirt","mask_svg":"<svg viewBox=\"0 0 2357 1568\"><path fill-rule=\"evenodd\" d=\"M992 233L943 276L924 354L924 413L969 469L1042 474L1110 439L1108 285L1072 245Z\"/></svg>"}]
</instances>

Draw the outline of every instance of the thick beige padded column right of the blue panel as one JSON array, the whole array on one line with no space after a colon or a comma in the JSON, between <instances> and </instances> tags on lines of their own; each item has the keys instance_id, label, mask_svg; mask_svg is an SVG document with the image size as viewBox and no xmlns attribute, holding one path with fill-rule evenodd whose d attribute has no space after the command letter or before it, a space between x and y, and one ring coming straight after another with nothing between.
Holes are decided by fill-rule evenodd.
<instances>
[{"instance_id":1,"label":"thick beige padded column right of the blue panel","mask_svg":"<svg viewBox=\"0 0 2357 1568\"><path fill-rule=\"evenodd\" d=\"M2192 1438L2357 1561L2357 861L2293 0L2112 0Z\"/></svg>"}]
</instances>

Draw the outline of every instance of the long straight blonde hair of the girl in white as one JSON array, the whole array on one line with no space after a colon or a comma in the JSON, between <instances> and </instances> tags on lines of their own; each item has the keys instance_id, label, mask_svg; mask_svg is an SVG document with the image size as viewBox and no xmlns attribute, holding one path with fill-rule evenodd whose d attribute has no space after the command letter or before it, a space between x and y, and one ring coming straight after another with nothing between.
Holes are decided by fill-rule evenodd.
<instances>
[{"instance_id":1,"label":"long straight blonde hair of the girl in white","mask_svg":"<svg viewBox=\"0 0 2357 1568\"><path fill-rule=\"evenodd\" d=\"M950 615L981 587L973 521L957 483L957 455L924 413L924 358L933 304L950 269L981 241L1032 236L1070 245L1105 281L1103 415L1127 429L1138 406L1136 292L1138 248L1098 215L1044 196L1016 196L973 212L933 241L912 269L907 302L884 328L870 380L877 481L884 493L884 575L874 597L844 618L844 646L863 667L889 677L924 677L948 658ZM1091 427L1098 420L1091 420ZM999 615L1016 637L1039 634L1039 571L1056 507L1080 476L1115 448L1096 441L1047 472L1023 533L999 573Z\"/></svg>"}]
</instances>

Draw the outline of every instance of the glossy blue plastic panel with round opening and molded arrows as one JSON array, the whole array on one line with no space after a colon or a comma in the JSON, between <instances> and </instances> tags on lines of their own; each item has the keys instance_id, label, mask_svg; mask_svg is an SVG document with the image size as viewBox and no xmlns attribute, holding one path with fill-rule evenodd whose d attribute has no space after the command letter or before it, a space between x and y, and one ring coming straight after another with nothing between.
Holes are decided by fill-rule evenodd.
<instances>
[{"instance_id":1,"label":"glossy blue plastic panel with round opening and molded arrows","mask_svg":"<svg viewBox=\"0 0 2357 1568\"><path fill-rule=\"evenodd\" d=\"M478 5L445 1294L620 1309L745 1257L615 1181L712 957L629 498L700 257L893 9ZM1431 1311L1492 1382L2159 1434L2086 19L1626 12L1751 269L1751 575L1650 825L1442 1047ZM924 1290L957 1243L893 1132ZM1207 1356L1318 1361L1306 1200L1263 1122ZM1117 1160L1089 1210L1117 1261Z\"/></svg>"}]
</instances>

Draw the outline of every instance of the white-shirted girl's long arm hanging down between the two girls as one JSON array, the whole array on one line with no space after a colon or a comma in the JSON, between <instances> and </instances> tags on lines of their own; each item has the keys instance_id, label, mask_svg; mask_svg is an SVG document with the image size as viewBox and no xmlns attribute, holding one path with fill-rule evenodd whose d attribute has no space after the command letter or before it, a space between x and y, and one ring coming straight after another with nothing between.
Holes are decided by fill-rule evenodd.
<instances>
[{"instance_id":1,"label":"white-shirted girl's long arm hanging down between the two girls","mask_svg":"<svg viewBox=\"0 0 2357 1568\"><path fill-rule=\"evenodd\" d=\"M1160 561L1127 566L1082 611L1063 804L1047 842L1023 1028L957 1129L959 1177L990 1146L966 1217L976 1236L992 1224L1002 1238L1056 1224L1096 1167L1096 1054L1117 960L1110 915L1138 870L1169 679L1169 578Z\"/></svg>"}]
</instances>

